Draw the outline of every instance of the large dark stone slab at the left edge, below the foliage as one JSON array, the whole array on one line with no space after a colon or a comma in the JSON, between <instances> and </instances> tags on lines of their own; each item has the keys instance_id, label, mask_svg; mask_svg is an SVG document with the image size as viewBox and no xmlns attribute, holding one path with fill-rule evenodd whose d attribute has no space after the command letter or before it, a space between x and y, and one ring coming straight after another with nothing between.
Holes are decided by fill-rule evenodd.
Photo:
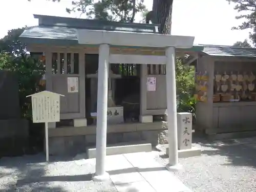
<instances>
[{"instance_id":1,"label":"large dark stone slab at the left edge, below the foliage","mask_svg":"<svg viewBox=\"0 0 256 192\"><path fill-rule=\"evenodd\" d=\"M29 125L20 118L18 81L0 70L0 158L23 155L28 145Z\"/></svg>"}]
</instances>

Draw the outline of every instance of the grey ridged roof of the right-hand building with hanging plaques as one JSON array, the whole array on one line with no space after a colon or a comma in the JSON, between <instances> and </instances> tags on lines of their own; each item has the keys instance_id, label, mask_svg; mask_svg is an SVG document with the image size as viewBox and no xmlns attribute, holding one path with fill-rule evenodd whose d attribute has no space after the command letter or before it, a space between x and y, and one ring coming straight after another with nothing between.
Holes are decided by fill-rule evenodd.
<instances>
[{"instance_id":1,"label":"grey ridged roof of the right-hand building with hanging plaques","mask_svg":"<svg viewBox=\"0 0 256 192\"><path fill-rule=\"evenodd\" d=\"M211 56L256 57L256 49L234 46L201 45L203 53Z\"/></svg>"}]
</instances>

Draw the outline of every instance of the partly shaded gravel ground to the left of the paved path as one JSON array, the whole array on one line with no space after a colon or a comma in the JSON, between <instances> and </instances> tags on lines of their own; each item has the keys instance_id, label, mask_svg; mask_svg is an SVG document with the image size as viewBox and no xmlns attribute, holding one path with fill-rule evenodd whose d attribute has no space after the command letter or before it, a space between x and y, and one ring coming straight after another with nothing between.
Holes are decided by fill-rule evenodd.
<instances>
[{"instance_id":1,"label":"partly shaded gravel ground to the left of the paved path","mask_svg":"<svg viewBox=\"0 0 256 192\"><path fill-rule=\"evenodd\" d=\"M0 191L2 192L116 192L113 183L90 181L95 172L94 160L53 159L45 163L45 155L2 158Z\"/></svg>"}]
</instances>

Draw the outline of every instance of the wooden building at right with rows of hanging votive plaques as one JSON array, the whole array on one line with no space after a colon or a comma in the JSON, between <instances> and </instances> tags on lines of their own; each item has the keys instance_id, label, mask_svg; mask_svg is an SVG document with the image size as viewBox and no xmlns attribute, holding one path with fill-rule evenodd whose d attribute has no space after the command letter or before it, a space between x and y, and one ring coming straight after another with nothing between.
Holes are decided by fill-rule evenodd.
<instances>
[{"instance_id":1,"label":"wooden building at right with rows of hanging votive plaques","mask_svg":"<svg viewBox=\"0 0 256 192\"><path fill-rule=\"evenodd\" d=\"M191 63L197 69L202 97L196 108L197 129L217 138L255 135L256 49L202 46ZM204 74L207 78L200 80Z\"/></svg>"}]
</instances>

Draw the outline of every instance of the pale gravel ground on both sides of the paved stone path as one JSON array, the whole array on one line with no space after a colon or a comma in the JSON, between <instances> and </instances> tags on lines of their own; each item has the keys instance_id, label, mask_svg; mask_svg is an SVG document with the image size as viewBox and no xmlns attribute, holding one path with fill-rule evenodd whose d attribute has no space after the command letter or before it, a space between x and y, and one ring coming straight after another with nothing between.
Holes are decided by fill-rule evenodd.
<instances>
[{"instance_id":1,"label":"pale gravel ground on both sides of the paved stone path","mask_svg":"<svg viewBox=\"0 0 256 192\"><path fill-rule=\"evenodd\" d=\"M179 159L183 169L177 176L194 192L256 191L256 138L208 143L194 139L202 156ZM165 152L166 145L158 150ZM95 161L59 159L45 155L2 158L0 160L0 191L81 191L117 192L113 183L94 183ZM157 159L167 164L163 152Z\"/></svg>"}]
</instances>

